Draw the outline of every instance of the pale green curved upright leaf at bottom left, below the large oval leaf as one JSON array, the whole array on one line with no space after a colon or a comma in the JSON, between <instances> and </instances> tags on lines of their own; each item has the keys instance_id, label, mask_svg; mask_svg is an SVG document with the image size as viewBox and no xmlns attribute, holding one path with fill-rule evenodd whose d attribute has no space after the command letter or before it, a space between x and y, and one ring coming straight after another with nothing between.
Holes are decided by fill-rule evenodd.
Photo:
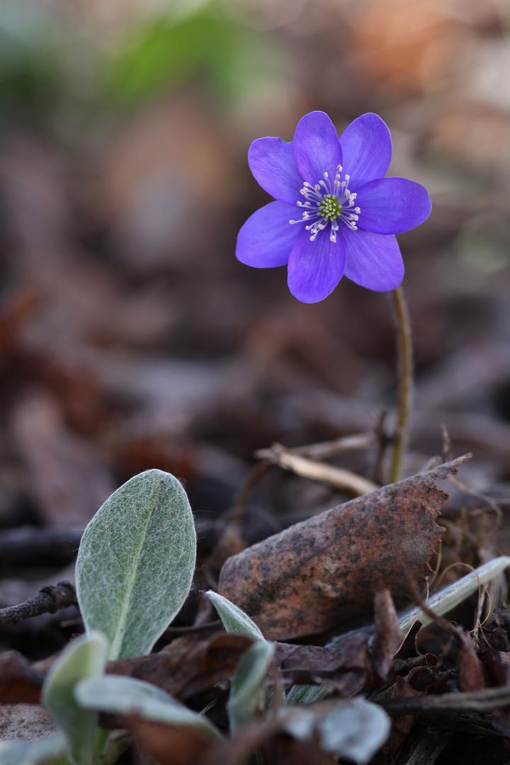
<instances>
[{"instance_id":1,"label":"pale green curved upright leaf at bottom left, below the large oval leaf","mask_svg":"<svg viewBox=\"0 0 510 765\"><path fill-rule=\"evenodd\" d=\"M92 765L97 715L79 707L73 695L78 680L102 675L108 642L99 632L77 638L51 667L44 682L42 702L66 735L71 762Z\"/></svg>"}]
</instances>

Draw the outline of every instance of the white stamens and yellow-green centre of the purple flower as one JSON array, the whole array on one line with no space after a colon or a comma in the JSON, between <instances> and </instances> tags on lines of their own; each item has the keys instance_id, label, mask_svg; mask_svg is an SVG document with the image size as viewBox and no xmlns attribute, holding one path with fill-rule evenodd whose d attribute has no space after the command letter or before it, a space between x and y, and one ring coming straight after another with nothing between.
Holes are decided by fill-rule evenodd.
<instances>
[{"instance_id":1,"label":"white stamens and yellow-green centre of the purple flower","mask_svg":"<svg viewBox=\"0 0 510 765\"><path fill-rule=\"evenodd\" d=\"M318 184L312 186L308 181L304 181L304 186L300 189L300 194L307 200L301 202L297 200L297 207L304 207L303 217L300 220L289 220L289 223L303 223L310 221L305 226L310 231L310 242L313 242L317 234L331 223L330 241L336 242L336 232L339 229L338 221L345 223L351 231L356 231L356 221L359 220L359 207L354 207L356 193L349 191L350 176L346 175L342 181L342 165L336 168L335 180L331 185L330 176L327 172L323 173L323 179ZM354 207L354 209L352 209Z\"/></svg>"}]
</instances>

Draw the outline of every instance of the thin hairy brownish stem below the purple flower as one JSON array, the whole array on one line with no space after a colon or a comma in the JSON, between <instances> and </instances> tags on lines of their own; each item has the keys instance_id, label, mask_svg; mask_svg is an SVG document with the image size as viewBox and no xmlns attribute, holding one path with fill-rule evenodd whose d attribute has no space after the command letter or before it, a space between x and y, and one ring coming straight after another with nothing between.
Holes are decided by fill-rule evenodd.
<instances>
[{"instance_id":1,"label":"thin hairy brownish stem below the purple flower","mask_svg":"<svg viewBox=\"0 0 510 765\"><path fill-rule=\"evenodd\" d=\"M409 420L413 399L413 343L408 304L401 287L391 292L395 313L398 347L398 418L391 457L389 483L400 480L402 457L408 445Z\"/></svg>"}]
</instances>

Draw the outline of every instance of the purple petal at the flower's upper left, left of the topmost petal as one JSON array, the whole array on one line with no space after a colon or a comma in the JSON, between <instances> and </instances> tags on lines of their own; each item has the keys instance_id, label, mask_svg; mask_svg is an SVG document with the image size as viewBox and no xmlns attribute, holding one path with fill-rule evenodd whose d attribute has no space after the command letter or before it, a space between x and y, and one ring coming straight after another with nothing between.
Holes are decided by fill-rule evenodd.
<instances>
[{"instance_id":1,"label":"purple petal at the flower's upper left, left of the topmost petal","mask_svg":"<svg viewBox=\"0 0 510 765\"><path fill-rule=\"evenodd\" d=\"M258 138L248 151L255 181L279 202L296 204L303 178L297 171L294 146L281 138Z\"/></svg>"}]
</instances>

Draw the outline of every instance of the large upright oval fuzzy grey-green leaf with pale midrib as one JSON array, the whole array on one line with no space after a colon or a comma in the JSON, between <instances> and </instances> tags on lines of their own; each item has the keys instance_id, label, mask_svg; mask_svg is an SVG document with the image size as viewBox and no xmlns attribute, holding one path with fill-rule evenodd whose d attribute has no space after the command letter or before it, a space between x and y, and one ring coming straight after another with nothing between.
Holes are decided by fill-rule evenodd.
<instances>
[{"instance_id":1,"label":"large upright oval fuzzy grey-green leaf with pale midrib","mask_svg":"<svg viewBox=\"0 0 510 765\"><path fill-rule=\"evenodd\" d=\"M190 591L197 536L177 478L147 470L128 480L86 527L76 594L87 630L101 630L109 659L152 646Z\"/></svg>"}]
</instances>

